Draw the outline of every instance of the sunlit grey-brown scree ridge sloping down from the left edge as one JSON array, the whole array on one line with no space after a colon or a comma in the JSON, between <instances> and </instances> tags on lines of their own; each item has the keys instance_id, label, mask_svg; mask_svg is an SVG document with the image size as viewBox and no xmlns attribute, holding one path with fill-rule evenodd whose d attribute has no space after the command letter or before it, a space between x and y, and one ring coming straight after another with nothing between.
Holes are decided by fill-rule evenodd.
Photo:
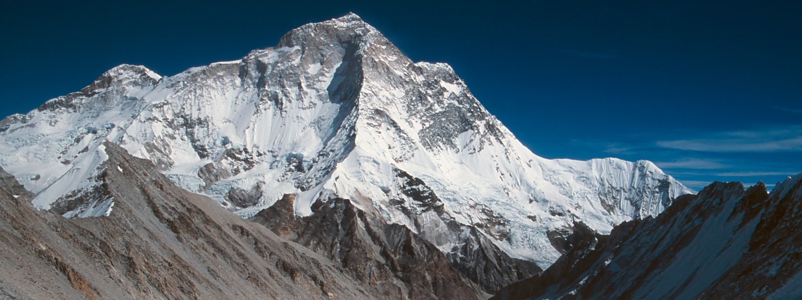
<instances>
[{"instance_id":1,"label":"sunlit grey-brown scree ridge sloping down from the left edge","mask_svg":"<svg viewBox=\"0 0 802 300\"><path fill-rule=\"evenodd\" d=\"M341 266L187 193L106 144L107 216L63 218L0 186L0 298L375 299ZM18 191L14 191L18 193Z\"/></svg>"}]
</instances>

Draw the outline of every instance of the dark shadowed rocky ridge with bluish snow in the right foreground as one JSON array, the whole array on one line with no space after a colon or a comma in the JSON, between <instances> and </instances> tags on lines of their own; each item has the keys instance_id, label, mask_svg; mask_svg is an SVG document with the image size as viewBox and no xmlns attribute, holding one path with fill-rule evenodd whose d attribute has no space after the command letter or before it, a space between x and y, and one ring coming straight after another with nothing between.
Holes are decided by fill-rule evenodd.
<instances>
[{"instance_id":1,"label":"dark shadowed rocky ridge with bluish snow in the right foreground","mask_svg":"<svg viewBox=\"0 0 802 300\"><path fill-rule=\"evenodd\" d=\"M544 273L493 299L800 298L800 216L802 174L771 194L762 182L715 182L657 218L583 234Z\"/></svg>"}]
</instances>

